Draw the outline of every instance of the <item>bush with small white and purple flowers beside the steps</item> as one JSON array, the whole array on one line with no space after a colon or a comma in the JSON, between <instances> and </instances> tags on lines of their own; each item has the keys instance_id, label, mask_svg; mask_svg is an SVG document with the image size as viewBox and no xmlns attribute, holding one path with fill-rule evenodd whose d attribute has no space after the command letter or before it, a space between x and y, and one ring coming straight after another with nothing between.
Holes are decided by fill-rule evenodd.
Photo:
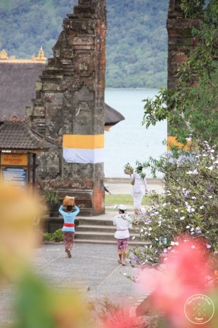
<instances>
[{"instance_id":1,"label":"bush with small white and purple flowers beside the steps","mask_svg":"<svg viewBox=\"0 0 218 328\"><path fill-rule=\"evenodd\" d=\"M190 141L190 138L189 138ZM159 161L152 158L143 167L164 173L165 195L151 192L151 206L141 209L136 231L145 247L131 250L132 265L159 265L166 261L184 235L203 241L202 252L215 263L218 250L218 154L206 141L192 140L191 149L172 149ZM218 268L214 268L216 270Z\"/></svg>"}]
</instances>

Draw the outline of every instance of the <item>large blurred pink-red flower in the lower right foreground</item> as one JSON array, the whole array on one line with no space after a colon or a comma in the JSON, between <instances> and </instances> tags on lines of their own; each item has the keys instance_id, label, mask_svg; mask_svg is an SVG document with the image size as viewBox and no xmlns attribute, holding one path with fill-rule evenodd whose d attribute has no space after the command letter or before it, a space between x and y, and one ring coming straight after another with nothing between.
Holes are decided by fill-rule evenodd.
<instances>
[{"instance_id":1,"label":"large blurred pink-red flower in the lower right foreground","mask_svg":"<svg viewBox=\"0 0 218 328\"><path fill-rule=\"evenodd\" d=\"M207 251L206 243L184 237L179 246L167 252L164 274L155 285L151 303L167 315L173 328L189 327L184 315L185 302L192 295L207 293L206 278L210 276Z\"/></svg>"}]
</instances>

